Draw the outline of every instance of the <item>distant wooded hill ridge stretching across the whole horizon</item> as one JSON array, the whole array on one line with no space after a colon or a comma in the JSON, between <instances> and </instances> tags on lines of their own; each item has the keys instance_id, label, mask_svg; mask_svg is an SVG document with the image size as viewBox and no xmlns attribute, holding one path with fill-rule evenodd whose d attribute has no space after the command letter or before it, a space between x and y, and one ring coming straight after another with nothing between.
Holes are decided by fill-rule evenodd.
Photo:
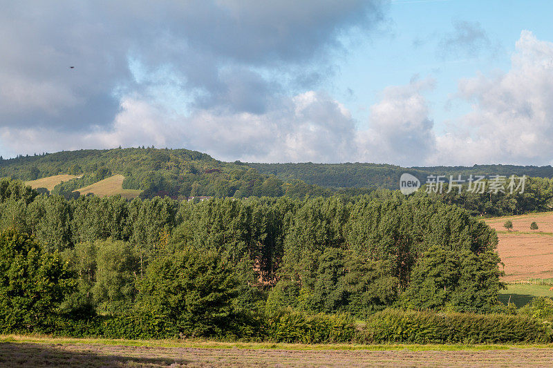
<instances>
[{"instance_id":1,"label":"distant wooded hill ridge stretching across the whole horizon","mask_svg":"<svg viewBox=\"0 0 553 368\"><path fill-rule=\"evenodd\" d=\"M141 198L171 197L292 197L341 195L350 198L375 188L397 189L402 173L427 175L527 175L525 193L444 193L440 199L471 215L511 215L550 211L553 206L551 166L437 166L402 168L388 164L254 164L223 162L197 151L167 148L114 148L67 151L1 159L0 177L37 180L66 174L77 178L58 184L50 194L78 197L77 189L111 175L124 176L122 190L141 191ZM447 190L446 190L447 191ZM137 192L138 193L138 192ZM84 193L82 193L84 194ZM106 193L104 193L106 194ZM109 193L108 193L109 194ZM122 194L121 190L118 193Z\"/></svg>"}]
</instances>

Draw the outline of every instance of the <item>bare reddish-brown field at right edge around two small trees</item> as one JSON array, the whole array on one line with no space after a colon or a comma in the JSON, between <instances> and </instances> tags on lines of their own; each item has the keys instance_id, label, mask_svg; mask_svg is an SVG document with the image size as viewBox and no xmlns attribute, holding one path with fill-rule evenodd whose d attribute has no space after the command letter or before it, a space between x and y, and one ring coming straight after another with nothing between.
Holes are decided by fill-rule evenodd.
<instances>
[{"instance_id":1,"label":"bare reddish-brown field at right edge around two small trees","mask_svg":"<svg viewBox=\"0 0 553 368\"><path fill-rule=\"evenodd\" d=\"M512 231L503 227L507 220L513 222ZM538 224L538 230L530 230L532 222ZM486 223L498 232L504 281L553 278L553 212L496 217Z\"/></svg>"}]
</instances>

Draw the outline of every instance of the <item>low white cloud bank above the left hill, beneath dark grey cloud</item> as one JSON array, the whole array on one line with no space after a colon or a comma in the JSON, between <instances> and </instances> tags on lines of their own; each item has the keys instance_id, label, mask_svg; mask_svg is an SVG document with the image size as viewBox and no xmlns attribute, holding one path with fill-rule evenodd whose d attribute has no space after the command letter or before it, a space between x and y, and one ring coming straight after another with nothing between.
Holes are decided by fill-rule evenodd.
<instances>
[{"instance_id":1,"label":"low white cloud bank above the left hill, beneath dark grey cloud","mask_svg":"<svg viewBox=\"0 0 553 368\"><path fill-rule=\"evenodd\" d=\"M124 98L111 128L87 134L44 128L2 128L8 146L57 151L154 144L204 151L218 159L266 162L344 162L355 155L355 122L324 93L282 98L263 114L204 109L185 116L137 98Z\"/></svg>"}]
</instances>

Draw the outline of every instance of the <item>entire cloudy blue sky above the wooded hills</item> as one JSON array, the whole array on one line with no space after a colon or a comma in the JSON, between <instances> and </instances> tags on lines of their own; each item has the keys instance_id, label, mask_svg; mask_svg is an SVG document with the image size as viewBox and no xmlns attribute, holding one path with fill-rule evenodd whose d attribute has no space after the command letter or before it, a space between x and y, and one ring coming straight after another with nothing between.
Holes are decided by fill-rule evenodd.
<instances>
[{"instance_id":1,"label":"entire cloudy blue sky above the wooded hills","mask_svg":"<svg viewBox=\"0 0 553 368\"><path fill-rule=\"evenodd\" d=\"M0 7L4 158L156 146L243 162L553 164L553 1Z\"/></svg>"}]
</instances>

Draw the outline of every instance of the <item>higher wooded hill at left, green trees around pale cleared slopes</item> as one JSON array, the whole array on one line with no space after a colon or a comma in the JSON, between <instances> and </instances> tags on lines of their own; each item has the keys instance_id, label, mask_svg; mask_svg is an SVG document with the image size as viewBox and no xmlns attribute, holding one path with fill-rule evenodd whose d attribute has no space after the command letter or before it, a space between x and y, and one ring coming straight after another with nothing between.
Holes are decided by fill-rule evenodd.
<instances>
[{"instance_id":1,"label":"higher wooded hill at left, green trees around pale cleared slopes","mask_svg":"<svg viewBox=\"0 0 553 368\"><path fill-rule=\"evenodd\" d=\"M298 180L285 184L274 175L262 175L240 162L221 162L205 153L186 149L115 148L19 156L0 161L0 177L35 180L58 174L82 176L54 188L66 197L77 188L111 174L124 175L123 188L141 189L143 198L303 197L330 192Z\"/></svg>"}]
</instances>

